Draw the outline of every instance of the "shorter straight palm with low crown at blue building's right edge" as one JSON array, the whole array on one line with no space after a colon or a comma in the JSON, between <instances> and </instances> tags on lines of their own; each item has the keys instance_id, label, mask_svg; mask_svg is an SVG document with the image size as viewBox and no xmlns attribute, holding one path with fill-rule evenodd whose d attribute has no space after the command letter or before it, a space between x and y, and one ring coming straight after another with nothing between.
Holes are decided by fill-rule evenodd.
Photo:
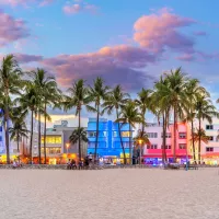
<instances>
[{"instance_id":1,"label":"shorter straight palm with low crown at blue building's right edge","mask_svg":"<svg viewBox=\"0 0 219 219\"><path fill-rule=\"evenodd\" d=\"M128 101L125 106L122 107L119 113L119 118L115 120L116 123L128 124L129 126L129 159L130 164L132 164L132 130L136 124L142 124L142 115L138 112L138 108L132 101Z\"/></svg>"}]
</instances>

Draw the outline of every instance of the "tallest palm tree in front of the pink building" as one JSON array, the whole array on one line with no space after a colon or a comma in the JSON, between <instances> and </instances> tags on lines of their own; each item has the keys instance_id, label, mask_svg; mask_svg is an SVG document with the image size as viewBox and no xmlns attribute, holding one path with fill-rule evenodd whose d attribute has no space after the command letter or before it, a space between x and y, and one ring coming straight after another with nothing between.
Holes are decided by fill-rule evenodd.
<instances>
[{"instance_id":1,"label":"tallest palm tree in front of the pink building","mask_svg":"<svg viewBox=\"0 0 219 219\"><path fill-rule=\"evenodd\" d=\"M176 159L176 132L177 132L177 119L184 117L184 110L186 104L185 88L187 78L182 72L181 68L175 71L171 70L165 74L168 80L168 97L171 108L173 110L173 124L174 124L174 146L173 146L173 160Z\"/></svg>"}]
</instances>

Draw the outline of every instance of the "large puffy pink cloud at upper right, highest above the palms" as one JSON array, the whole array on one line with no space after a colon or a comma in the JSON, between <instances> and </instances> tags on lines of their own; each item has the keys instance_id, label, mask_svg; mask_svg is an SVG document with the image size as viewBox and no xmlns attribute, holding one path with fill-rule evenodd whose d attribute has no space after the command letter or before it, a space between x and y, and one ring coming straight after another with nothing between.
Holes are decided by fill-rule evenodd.
<instances>
[{"instance_id":1,"label":"large puffy pink cloud at upper right, highest above the palms","mask_svg":"<svg viewBox=\"0 0 219 219\"><path fill-rule=\"evenodd\" d=\"M154 53L165 49L193 51L194 38L180 32L178 28L195 24L196 21L181 18L162 9L158 13L143 15L134 25L134 39L142 47Z\"/></svg>"}]
</instances>

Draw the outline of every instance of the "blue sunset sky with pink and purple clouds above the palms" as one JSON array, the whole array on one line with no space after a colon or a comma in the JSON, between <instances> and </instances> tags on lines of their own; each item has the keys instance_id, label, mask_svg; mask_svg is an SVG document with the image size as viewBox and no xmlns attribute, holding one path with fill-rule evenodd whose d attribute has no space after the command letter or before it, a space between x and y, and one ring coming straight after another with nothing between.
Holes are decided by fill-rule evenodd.
<instances>
[{"instance_id":1,"label":"blue sunset sky with pink and purple clouds above the palms","mask_svg":"<svg viewBox=\"0 0 219 219\"><path fill-rule=\"evenodd\" d=\"M182 66L219 97L218 0L0 0L2 57L65 90L101 76L130 92Z\"/></svg>"}]
</instances>

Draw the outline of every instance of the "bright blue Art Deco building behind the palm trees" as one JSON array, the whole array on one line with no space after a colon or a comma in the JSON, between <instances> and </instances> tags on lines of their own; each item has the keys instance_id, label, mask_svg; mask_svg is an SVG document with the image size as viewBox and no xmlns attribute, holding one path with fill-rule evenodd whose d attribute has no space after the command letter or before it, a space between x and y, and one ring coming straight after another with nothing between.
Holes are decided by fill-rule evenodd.
<instances>
[{"instance_id":1,"label":"bright blue Art Deco building behind the palm trees","mask_svg":"<svg viewBox=\"0 0 219 219\"><path fill-rule=\"evenodd\" d=\"M129 158L129 125L125 124L120 127L123 146L125 148L126 158ZM132 131L132 130L131 130ZM89 118L88 124L88 153L94 153L96 137L96 119ZM120 145L118 124L100 118L99 124L99 139L97 139L97 154L100 158L120 158L123 159L123 148Z\"/></svg>"}]
</instances>

